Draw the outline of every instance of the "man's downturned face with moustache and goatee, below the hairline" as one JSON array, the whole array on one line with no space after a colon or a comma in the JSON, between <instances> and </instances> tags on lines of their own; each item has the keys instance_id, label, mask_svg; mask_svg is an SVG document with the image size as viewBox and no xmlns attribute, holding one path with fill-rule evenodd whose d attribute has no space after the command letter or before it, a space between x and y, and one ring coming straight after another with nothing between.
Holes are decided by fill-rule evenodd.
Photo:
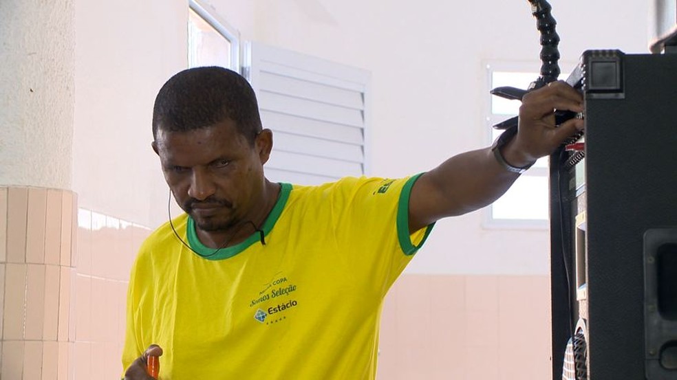
<instances>
[{"instance_id":1,"label":"man's downturned face with moustache and goatee, below the hairline","mask_svg":"<svg viewBox=\"0 0 677 380\"><path fill-rule=\"evenodd\" d=\"M270 131L262 135L251 146L231 120L189 132L158 128L153 149L164 179L200 230L225 232L250 220L264 204Z\"/></svg>"}]
</instances>

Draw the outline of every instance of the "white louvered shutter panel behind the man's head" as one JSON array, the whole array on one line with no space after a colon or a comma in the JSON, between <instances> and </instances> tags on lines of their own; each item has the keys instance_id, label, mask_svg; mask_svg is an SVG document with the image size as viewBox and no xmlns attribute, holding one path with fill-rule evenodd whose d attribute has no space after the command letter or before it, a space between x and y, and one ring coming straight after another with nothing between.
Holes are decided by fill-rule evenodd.
<instances>
[{"instance_id":1,"label":"white louvered shutter panel behind the man's head","mask_svg":"<svg viewBox=\"0 0 677 380\"><path fill-rule=\"evenodd\" d=\"M268 179L314 185L365 174L368 71L258 43L245 58L273 131Z\"/></svg>"}]
</instances>

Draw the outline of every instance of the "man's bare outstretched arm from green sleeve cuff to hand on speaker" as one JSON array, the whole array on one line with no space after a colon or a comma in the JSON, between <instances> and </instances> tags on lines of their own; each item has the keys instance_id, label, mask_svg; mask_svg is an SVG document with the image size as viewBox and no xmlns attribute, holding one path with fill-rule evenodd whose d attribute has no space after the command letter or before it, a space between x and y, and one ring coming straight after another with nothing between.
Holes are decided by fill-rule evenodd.
<instances>
[{"instance_id":1,"label":"man's bare outstretched arm from green sleeve cuff to hand on speaker","mask_svg":"<svg viewBox=\"0 0 677 380\"><path fill-rule=\"evenodd\" d=\"M411 190L409 231L492 203L519 177L506 165L529 166L583 128L577 118L556 126L555 109L582 112L583 97L565 82L527 93L519 108L517 135L499 148L504 164L491 148L484 148L455 155L422 175Z\"/></svg>"}]
</instances>

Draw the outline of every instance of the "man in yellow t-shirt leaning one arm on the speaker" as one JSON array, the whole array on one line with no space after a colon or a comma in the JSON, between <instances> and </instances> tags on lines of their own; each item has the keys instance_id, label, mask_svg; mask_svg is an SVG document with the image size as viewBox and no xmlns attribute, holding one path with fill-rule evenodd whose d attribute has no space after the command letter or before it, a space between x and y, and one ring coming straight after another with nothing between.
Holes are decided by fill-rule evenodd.
<instances>
[{"instance_id":1,"label":"man in yellow t-shirt leaning one arm on the speaker","mask_svg":"<svg viewBox=\"0 0 677 380\"><path fill-rule=\"evenodd\" d=\"M511 141L421 175L292 186L264 176L272 132L244 78L176 74L155 100L152 146L186 214L134 264L125 379L150 379L149 355L163 355L163 380L374 379L383 298L433 224L497 199L583 128L553 116L582 101L563 82L533 91Z\"/></svg>"}]
</instances>

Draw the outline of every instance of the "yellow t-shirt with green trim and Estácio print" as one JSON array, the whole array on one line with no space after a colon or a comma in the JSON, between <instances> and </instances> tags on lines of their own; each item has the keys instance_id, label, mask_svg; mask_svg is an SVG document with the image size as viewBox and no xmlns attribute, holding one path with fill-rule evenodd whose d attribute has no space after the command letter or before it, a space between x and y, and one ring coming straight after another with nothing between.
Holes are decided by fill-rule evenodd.
<instances>
[{"instance_id":1,"label":"yellow t-shirt with green trim and Est\u00e1cio print","mask_svg":"<svg viewBox=\"0 0 677 380\"><path fill-rule=\"evenodd\" d=\"M374 379L383 298L432 225L409 234L408 179L281 184L259 234L213 254L186 214L131 271L127 368L150 344L160 379Z\"/></svg>"}]
</instances>

